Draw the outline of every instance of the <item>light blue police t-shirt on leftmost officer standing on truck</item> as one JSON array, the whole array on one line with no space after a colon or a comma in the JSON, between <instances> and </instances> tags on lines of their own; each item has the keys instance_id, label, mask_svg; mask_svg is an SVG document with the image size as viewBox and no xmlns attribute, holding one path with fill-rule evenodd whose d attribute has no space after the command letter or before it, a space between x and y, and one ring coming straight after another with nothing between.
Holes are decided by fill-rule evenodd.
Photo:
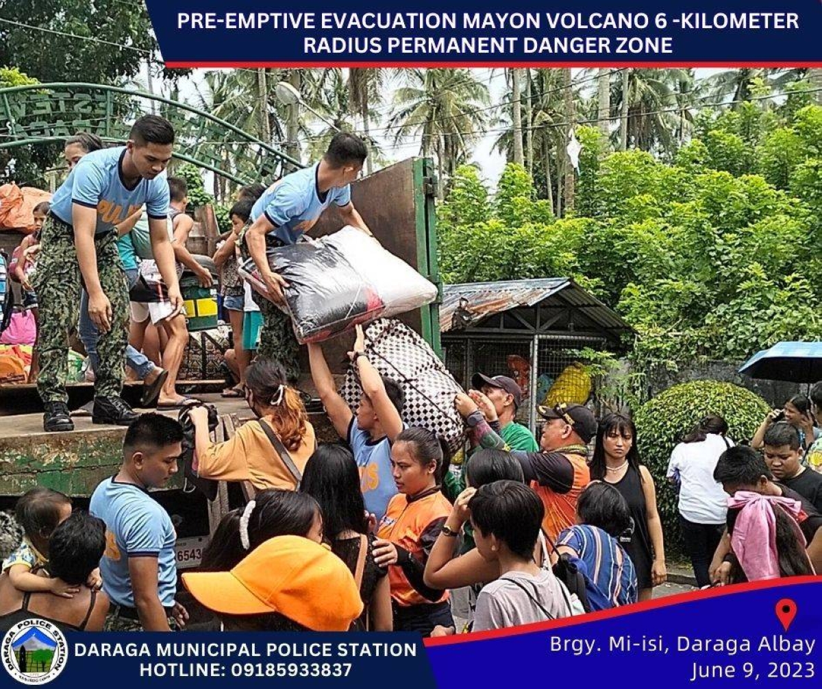
<instances>
[{"instance_id":1,"label":"light blue police t-shirt on leftmost officer standing on truck","mask_svg":"<svg viewBox=\"0 0 822 689\"><path fill-rule=\"evenodd\" d=\"M95 234L104 234L145 204L150 218L165 220L169 212L169 181L165 173L154 179L141 178L126 187L122 178L125 146L95 150L84 155L66 181L54 192L51 212L72 224L72 205L97 210Z\"/></svg>"}]
</instances>

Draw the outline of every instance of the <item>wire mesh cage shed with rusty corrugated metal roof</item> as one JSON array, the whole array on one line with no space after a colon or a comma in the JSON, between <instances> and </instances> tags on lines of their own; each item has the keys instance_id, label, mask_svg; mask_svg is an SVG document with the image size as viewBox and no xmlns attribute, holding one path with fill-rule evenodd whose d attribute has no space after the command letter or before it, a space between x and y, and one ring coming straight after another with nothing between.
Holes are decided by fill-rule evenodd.
<instances>
[{"instance_id":1,"label":"wire mesh cage shed with rusty corrugated metal roof","mask_svg":"<svg viewBox=\"0 0 822 689\"><path fill-rule=\"evenodd\" d=\"M598 406L597 352L618 352L625 321L568 278L447 284L440 328L446 367L460 385L475 372L513 378L517 420L536 431L538 405Z\"/></svg>"}]
</instances>

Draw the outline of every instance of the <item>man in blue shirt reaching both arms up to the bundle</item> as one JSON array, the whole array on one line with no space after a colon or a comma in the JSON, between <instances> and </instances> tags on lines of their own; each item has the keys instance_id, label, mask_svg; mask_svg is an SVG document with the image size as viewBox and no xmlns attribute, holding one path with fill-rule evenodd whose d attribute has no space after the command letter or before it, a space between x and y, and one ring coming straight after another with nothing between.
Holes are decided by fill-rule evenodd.
<instances>
[{"instance_id":1,"label":"man in blue shirt reaching both arms up to the bundle","mask_svg":"<svg viewBox=\"0 0 822 689\"><path fill-rule=\"evenodd\" d=\"M388 502L397 494L391 475L391 445L403 430L403 420L399 414L404 395L396 381L381 377L368 361L363 326L357 326L357 340L349 352L349 358L357 367L363 387L356 416L339 396L321 346L308 344L308 360L317 394L339 437L344 437L351 446L360 471L360 488L366 510L376 517L379 524Z\"/></svg>"}]
</instances>

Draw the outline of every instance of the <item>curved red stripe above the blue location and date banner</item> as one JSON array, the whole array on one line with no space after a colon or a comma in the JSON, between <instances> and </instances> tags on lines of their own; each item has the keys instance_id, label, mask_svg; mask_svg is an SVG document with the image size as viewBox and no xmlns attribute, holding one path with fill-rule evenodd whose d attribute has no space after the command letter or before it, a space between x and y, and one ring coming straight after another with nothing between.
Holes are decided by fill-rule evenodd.
<instances>
[{"instance_id":1,"label":"curved red stripe above the blue location and date banner","mask_svg":"<svg viewBox=\"0 0 822 689\"><path fill-rule=\"evenodd\" d=\"M690 603L695 600L707 600L718 598L718 596L744 594L747 591L760 591L764 589L778 589L785 586L801 584L822 584L822 576L792 576L786 579L770 579L764 581L751 581L746 584L736 584L732 586L719 586L713 589L699 591L688 591L684 594L674 594L656 600L647 600L644 603L633 603L622 608L612 610L601 610L598 613L589 613L579 617L564 617L561 620L552 622L536 622L534 624L523 625L522 627L512 627L510 629L494 629L492 631L473 631L469 634L457 634L455 636L439 636L436 639L423 639L426 646L446 646L452 644L465 644L471 641L483 641L487 639L501 639L507 636L520 636L530 634L534 631L547 631L549 629L560 629L561 627L575 627L588 622L598 622L608 620L612 617L623 617L635 613L644 613L648 610L658 608L668 608L680 603Z\"/></svg>"}]
</instances>

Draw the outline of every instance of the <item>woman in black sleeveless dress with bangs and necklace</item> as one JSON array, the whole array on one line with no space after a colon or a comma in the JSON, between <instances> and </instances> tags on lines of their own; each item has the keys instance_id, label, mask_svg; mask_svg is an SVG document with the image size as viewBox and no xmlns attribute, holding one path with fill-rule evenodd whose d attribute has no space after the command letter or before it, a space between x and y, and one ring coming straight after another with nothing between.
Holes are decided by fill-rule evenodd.
<instances>
[{"instance_id":1,"label":"woman in black sleeveless dress with bangs and necklace","mask_svg":"<svg viewBox=\"0 0 822 689\"><path fill-rule=\"evenodd\" d=\"M628 503L634 529L621 537L621 545L634 563L639 599L648 600L653 587L666 578L663 525L653 478L648 467L640 464L636 427L630 418L607 414L599 423L590 469L592 480L611 483Z\"/></svg>"}]
</instances>

